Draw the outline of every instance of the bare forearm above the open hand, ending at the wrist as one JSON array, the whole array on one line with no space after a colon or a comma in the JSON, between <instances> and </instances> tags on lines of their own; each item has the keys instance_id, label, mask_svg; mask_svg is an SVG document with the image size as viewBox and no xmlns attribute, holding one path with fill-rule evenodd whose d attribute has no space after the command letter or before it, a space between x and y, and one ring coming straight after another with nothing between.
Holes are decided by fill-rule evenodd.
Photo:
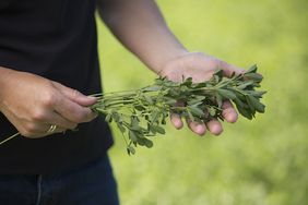
<instances>
[{"instance_id":1,"label":"bare forearm above the open hand, ending at the wrist","mask_svg":"<svg viewBox=\"0 0 308 205\"><path fill-rule=\"evenodd\" d=\"M98 0L98 11L115 36L156 73L186 53L154 0Z\"/></svg>"}]
</instances>

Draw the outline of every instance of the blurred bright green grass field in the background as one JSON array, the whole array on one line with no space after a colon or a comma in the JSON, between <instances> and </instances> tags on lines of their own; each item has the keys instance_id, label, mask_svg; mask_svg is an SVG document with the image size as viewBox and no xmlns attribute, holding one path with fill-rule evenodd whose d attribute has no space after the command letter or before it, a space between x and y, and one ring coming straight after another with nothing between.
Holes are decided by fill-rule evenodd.
<instances>
[{"instance_id":1,"label":"blurred bright green grass field in the background","mask_svg":"<svg viewBox=\"0 0 308 205\"><path fill-rule=\"evenodd\" d=\"M123 205L301 205L308 202L307 20L304 0L157 3L189 50L238 67L258 63L265 114L224 124L220 137L167 128L152 149L129 157L114 129L110 150ZM105 92L138 88L155 75L98 22Z\"/></svg>"}]
</instances>

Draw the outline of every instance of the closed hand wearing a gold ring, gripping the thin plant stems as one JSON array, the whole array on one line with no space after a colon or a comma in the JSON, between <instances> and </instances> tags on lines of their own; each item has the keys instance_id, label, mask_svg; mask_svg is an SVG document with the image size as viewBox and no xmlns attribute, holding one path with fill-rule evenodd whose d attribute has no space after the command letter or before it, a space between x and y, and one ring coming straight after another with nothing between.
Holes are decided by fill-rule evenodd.
<instances>
[{"instance_id":1,"label":"closed hand wearing a gold ring, gripping the thin plant stems","mask_svg":"<svg viewBox=\"0 0 308 205\"><path fill-rule=\"evenodd\" d=\"M0 68L0 111L26 137L75 129L95 118L94 97L25 72ZM52 133L47 133L57 125Z\"/></svg>"}]
</instances>

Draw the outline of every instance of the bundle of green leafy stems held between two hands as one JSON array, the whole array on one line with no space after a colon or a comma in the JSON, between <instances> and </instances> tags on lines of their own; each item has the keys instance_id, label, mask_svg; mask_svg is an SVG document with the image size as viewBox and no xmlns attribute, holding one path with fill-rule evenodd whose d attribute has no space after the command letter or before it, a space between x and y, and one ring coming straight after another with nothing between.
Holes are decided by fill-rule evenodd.
<instances>
[{"instance_id":1,"label":"bundle of green leafy stems held between two hands","mask_svg":"<svg viewBox=\"0 0 308 205\"><path fill-rule=\"evenodd\" d=\"M134 154L138 145L150 148L152 136L165 134L164 125L170 112L191 121L223 121L222 105L229 99L241 116L251 120L256 112L264 112L265 106L260 99L265 92L256 91L261 81L257 65L229 79L217 71L202 83L193 83L191 77L180 83L159 77L153 85L140 89L95 95L98 100L92 109L108 123L117 124L128 154Z\"/></svg>"}]
</instances>

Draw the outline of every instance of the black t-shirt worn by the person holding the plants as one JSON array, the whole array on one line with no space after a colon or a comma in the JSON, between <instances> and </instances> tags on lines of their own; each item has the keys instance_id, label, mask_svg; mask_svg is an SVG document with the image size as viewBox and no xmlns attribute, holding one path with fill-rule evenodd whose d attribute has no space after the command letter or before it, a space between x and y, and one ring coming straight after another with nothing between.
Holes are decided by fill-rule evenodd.
<instances>
[{"instance_id":1,"label":"black t-shirt worn by the person holding the plants","mask_svg":"<svg viewBox=\"0 0 308 205\"><path fill-rule=\"evenodd\" d=\"M99 93L95 3L1 0L0 65L35 73L87 95ZM0 112L0 141L15 132ZM111 144L103 118L66 134L37 140L19 136L0 145L0 174L68 171L99 158Z\"/></svg>"}]
</instances>

